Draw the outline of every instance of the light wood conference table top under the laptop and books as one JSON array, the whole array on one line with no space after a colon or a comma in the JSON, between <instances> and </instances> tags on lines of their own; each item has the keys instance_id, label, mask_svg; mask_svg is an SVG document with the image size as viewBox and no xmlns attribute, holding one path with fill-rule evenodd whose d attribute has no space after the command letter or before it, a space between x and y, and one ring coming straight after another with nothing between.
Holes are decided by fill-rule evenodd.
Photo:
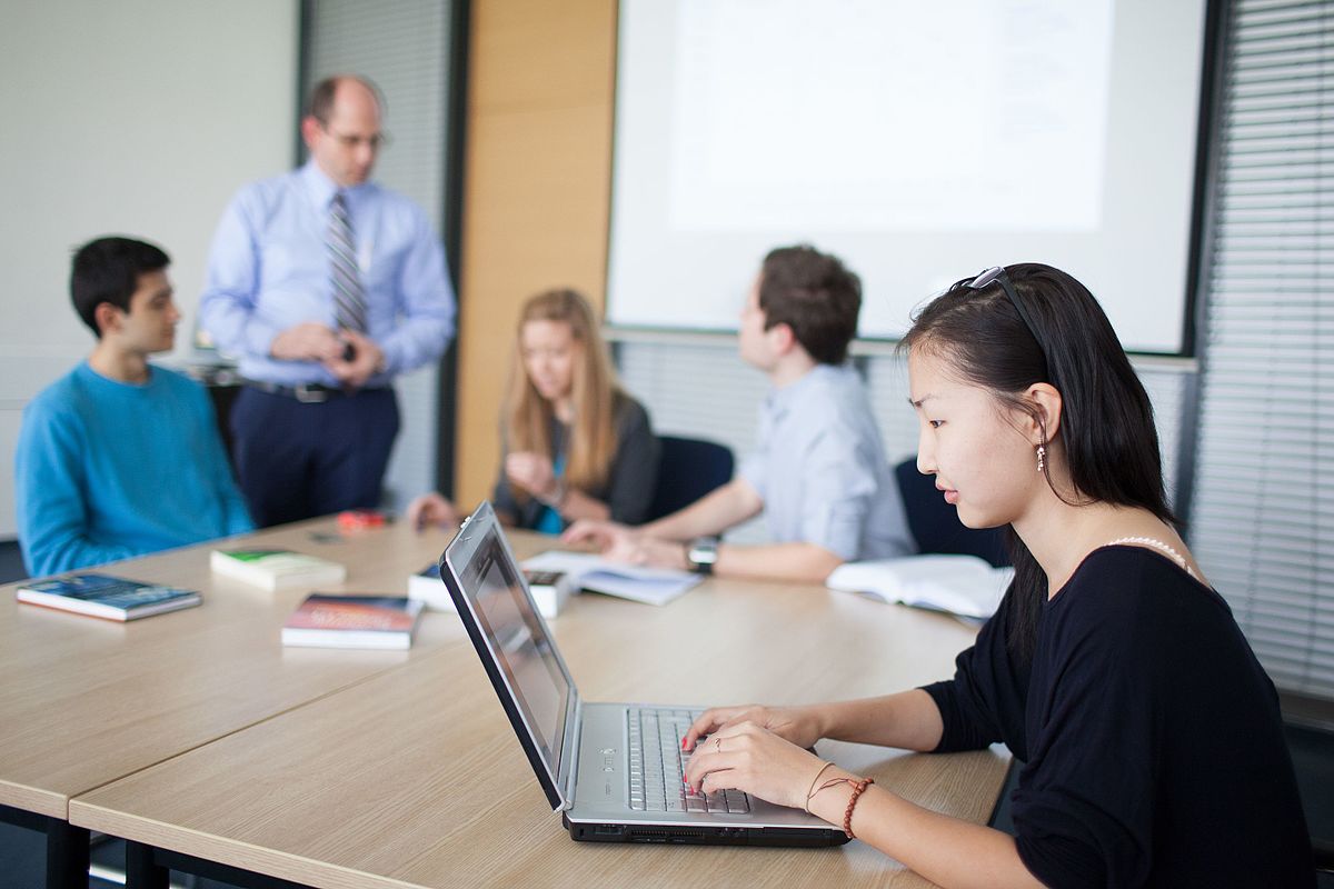
<instances>
[{"instance_id":1,"label":"light wood conference table top under the laptop and books","mask_svg":"<svg viewBox=\"0 0 1334 889\"><path fill-rule=\"evenodd\" d=\"M348 592L399 592L448 540L402 525L336 541L332 530L323 520L245 542L343 561ZM523 557L550 538L516 533L512 542ZM120 626L15 606L12 596L0 602L0 664L9 666L0 720L23 736L7 730L0 741L0 802L55 817L64 805L75 829L129 840L132 877L157 878L153 861L201 860L329 889L684 885L724 870L756 885L926 885L860 842L575 844L455 616L427 614L411 652L284 649L279 629L305 590L213 578L211 548L117 568L203 589L196 609ZM823 588L723 580L664 608L579 596L552 632L586 697L680 704L896 690L948 676L974 633ZM39 650L41 640L59 650ZM35 660L16 660L9 642ZM17 681L20 665L31 680ZM818 750L976 822L1007 765L995 752L828 741Z\"/></svg>"}]
</instances>

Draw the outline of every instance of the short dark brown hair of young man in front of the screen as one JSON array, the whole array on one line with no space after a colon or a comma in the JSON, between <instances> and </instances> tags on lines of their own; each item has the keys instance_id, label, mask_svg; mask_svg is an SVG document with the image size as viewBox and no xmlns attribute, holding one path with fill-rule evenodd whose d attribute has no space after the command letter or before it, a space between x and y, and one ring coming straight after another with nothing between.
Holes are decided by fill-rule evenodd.
<instances>
[{"instance_id":1,"label":"short dark brown hair of young man in front of the screen","mask_svg":"<svg viewBox=\"0 0 1334 889\"><path fill-rule=\"evenodd\" d=\"M842 364L856 336L862 280L836 256L808 244L780 247L764 257L759 308L766 331L786 324L812 359Z\"/></svg>"}]
</instances>

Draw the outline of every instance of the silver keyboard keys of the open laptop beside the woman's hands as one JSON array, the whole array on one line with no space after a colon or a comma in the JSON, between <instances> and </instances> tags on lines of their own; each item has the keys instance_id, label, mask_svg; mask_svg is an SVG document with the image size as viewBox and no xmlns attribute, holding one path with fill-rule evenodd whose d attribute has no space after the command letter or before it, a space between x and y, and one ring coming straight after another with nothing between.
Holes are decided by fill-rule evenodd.
<instances>
[{"instance_id":1,"label":"silver keyboard keys of the open laptop beside the woman's hands","mask_svg":"<svg viewBox=\"0 0 1334 889\"><path fill-rule=\"evenodd\" d=\"M680 738L702 710L627 708L630 736L630 808L636 812L750 812L750 797L740 790L699 794L682 776L690 754ZM700 741L699 744L702 744ZM699 748L696 744L696 749Z\"/></svg>"}]
</instances>

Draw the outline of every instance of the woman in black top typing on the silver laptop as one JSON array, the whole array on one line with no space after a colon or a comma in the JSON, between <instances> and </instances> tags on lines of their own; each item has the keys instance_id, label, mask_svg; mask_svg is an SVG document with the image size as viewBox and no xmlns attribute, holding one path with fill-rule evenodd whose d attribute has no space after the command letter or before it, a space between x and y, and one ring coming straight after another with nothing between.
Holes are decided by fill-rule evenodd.
<instances>
[{"instance_id":1,"label":"woman in black top typing on the silver laptop","mask_svg":"<svg viewBox=\"0 0 1334 889\"><path fill-rule=\"evenodd\" d=\"M706 712L687 781L807 809L943 886L1310 886L1274 686L1166 505L1153 411L1069 275L988 269L903 340L918 468L972 528L1010 525L1015 581L950 681ZM1015 836L823 762L819 738L1002 741Z\"/></svg>"}]
</instances>

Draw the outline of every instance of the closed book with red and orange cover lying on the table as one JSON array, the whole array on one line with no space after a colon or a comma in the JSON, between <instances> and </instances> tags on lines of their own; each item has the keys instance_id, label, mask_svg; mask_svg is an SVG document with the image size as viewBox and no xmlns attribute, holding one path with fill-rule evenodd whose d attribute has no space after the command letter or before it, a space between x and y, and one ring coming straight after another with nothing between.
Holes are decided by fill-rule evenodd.
<instances>
[{"instance_id":1,"label":"closed book with red and orange cover lying on the table","mask_svg":"<svg viewBox=\"0 0 1334 889\"><path fill-rule=\"evenodd\" d=\"M311 593L283 624L283 645L411 648L423 605L403 596Z\"/></svg>"}]
</instances>

